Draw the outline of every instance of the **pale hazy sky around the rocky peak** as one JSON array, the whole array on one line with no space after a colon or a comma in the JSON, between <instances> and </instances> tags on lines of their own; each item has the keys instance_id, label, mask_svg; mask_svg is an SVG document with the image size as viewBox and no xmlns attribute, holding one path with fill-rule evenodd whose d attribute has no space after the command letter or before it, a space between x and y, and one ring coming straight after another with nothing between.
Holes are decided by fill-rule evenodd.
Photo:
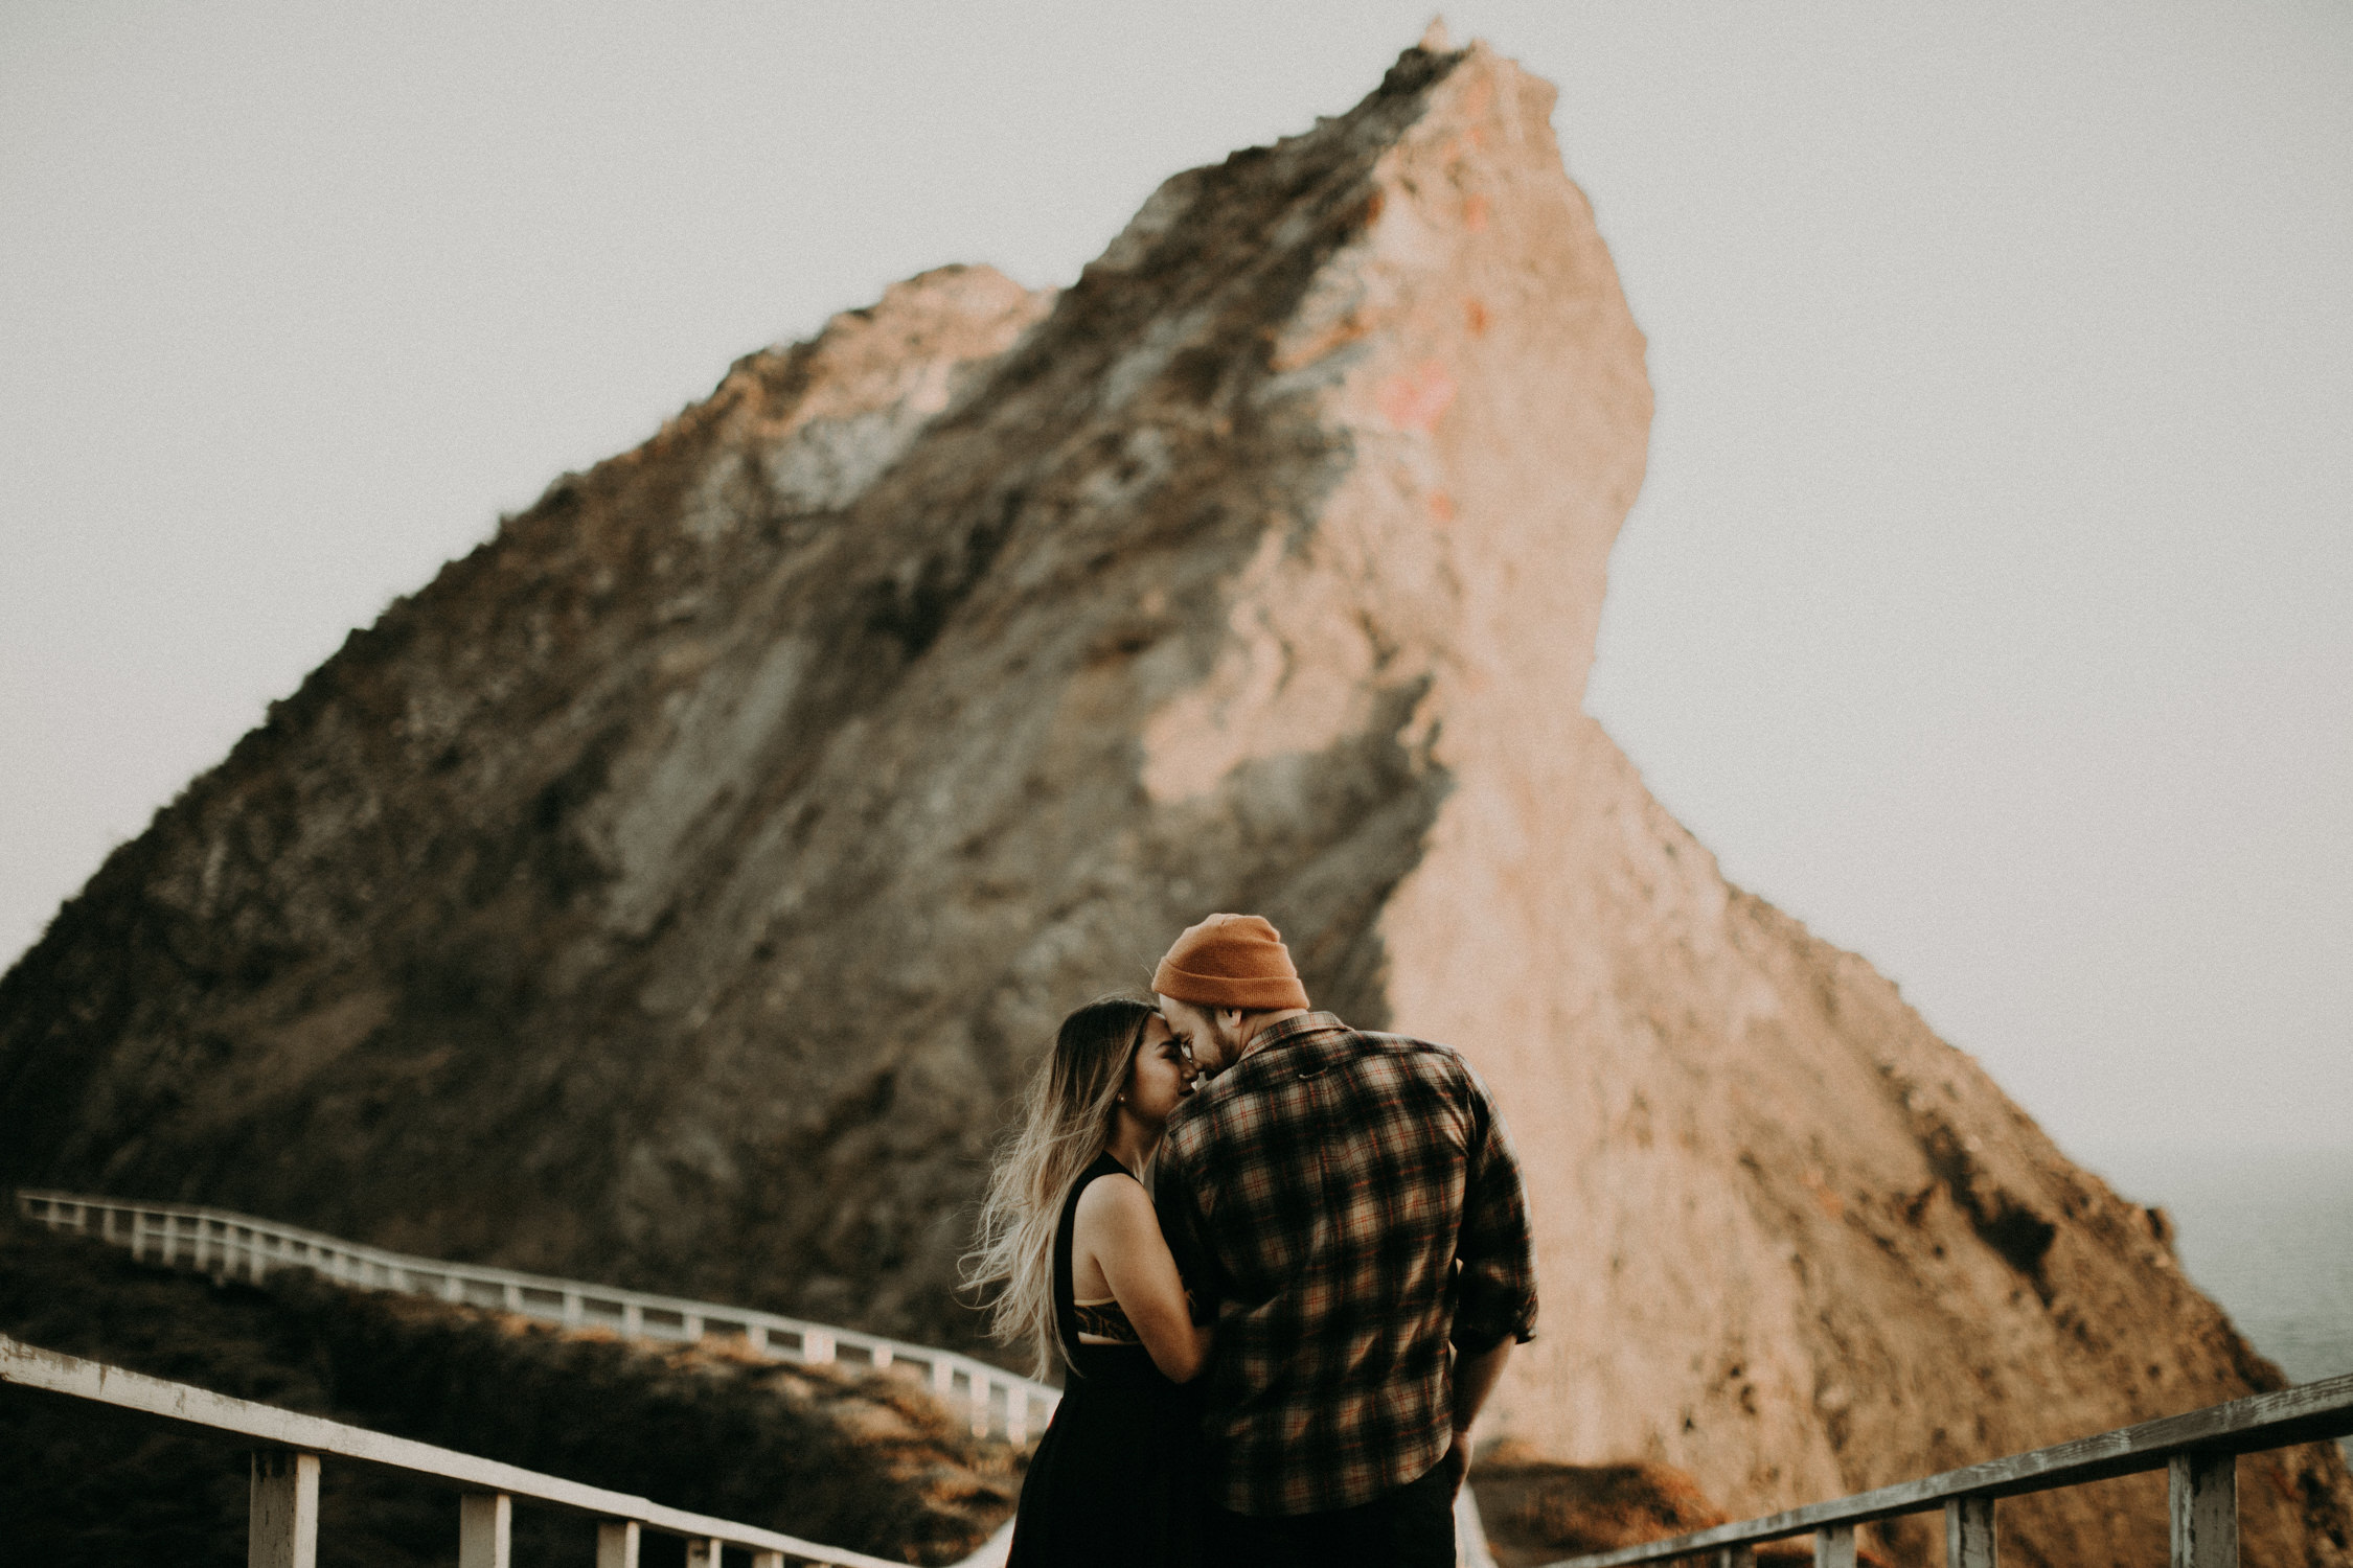
<instances>
[{"instance_id":1,"label":"pale hazy sky around the rocky peak","mask_svg":"<svg viewBox=\"0 0 2353 1568\"><path fill-rule=\"evenodd\" d=\"M1659 393L1591 708L2071 1150L2353 1147L2353 5L1459 5ZM496 512L1428 0L0 5L0 961ZM1405 1020L1409 1023L1409 1020Z\"/></svg>"}]
</instances>

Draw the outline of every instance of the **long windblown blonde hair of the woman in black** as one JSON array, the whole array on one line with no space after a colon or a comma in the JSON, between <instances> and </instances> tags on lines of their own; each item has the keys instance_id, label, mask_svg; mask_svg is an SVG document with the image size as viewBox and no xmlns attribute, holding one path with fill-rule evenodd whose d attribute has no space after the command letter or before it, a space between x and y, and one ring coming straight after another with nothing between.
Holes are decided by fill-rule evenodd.
<instances>
[{"instance_id":1,"label":"long windblown blonde hair of the woman in black","mask_svg":"<svg viewBox=\"0 0 2353 1568\"><path fill-rule=\"evenodd\" d=\"M1061 1349L1054 1326L1061 1204L1078 1173L1111 1143L1127 1070L1153 1018L1153 1006L1134 997L1096 997L1064 1018L1054 1048L1031 1074L1021 1126L998 1147L988 1173L962 1284L967 1291L1000 1286L988 1302L988 1335L998 1345L1028 1342L1035 1378L1052 1373Z\"/></svg>"}]
</instances>

